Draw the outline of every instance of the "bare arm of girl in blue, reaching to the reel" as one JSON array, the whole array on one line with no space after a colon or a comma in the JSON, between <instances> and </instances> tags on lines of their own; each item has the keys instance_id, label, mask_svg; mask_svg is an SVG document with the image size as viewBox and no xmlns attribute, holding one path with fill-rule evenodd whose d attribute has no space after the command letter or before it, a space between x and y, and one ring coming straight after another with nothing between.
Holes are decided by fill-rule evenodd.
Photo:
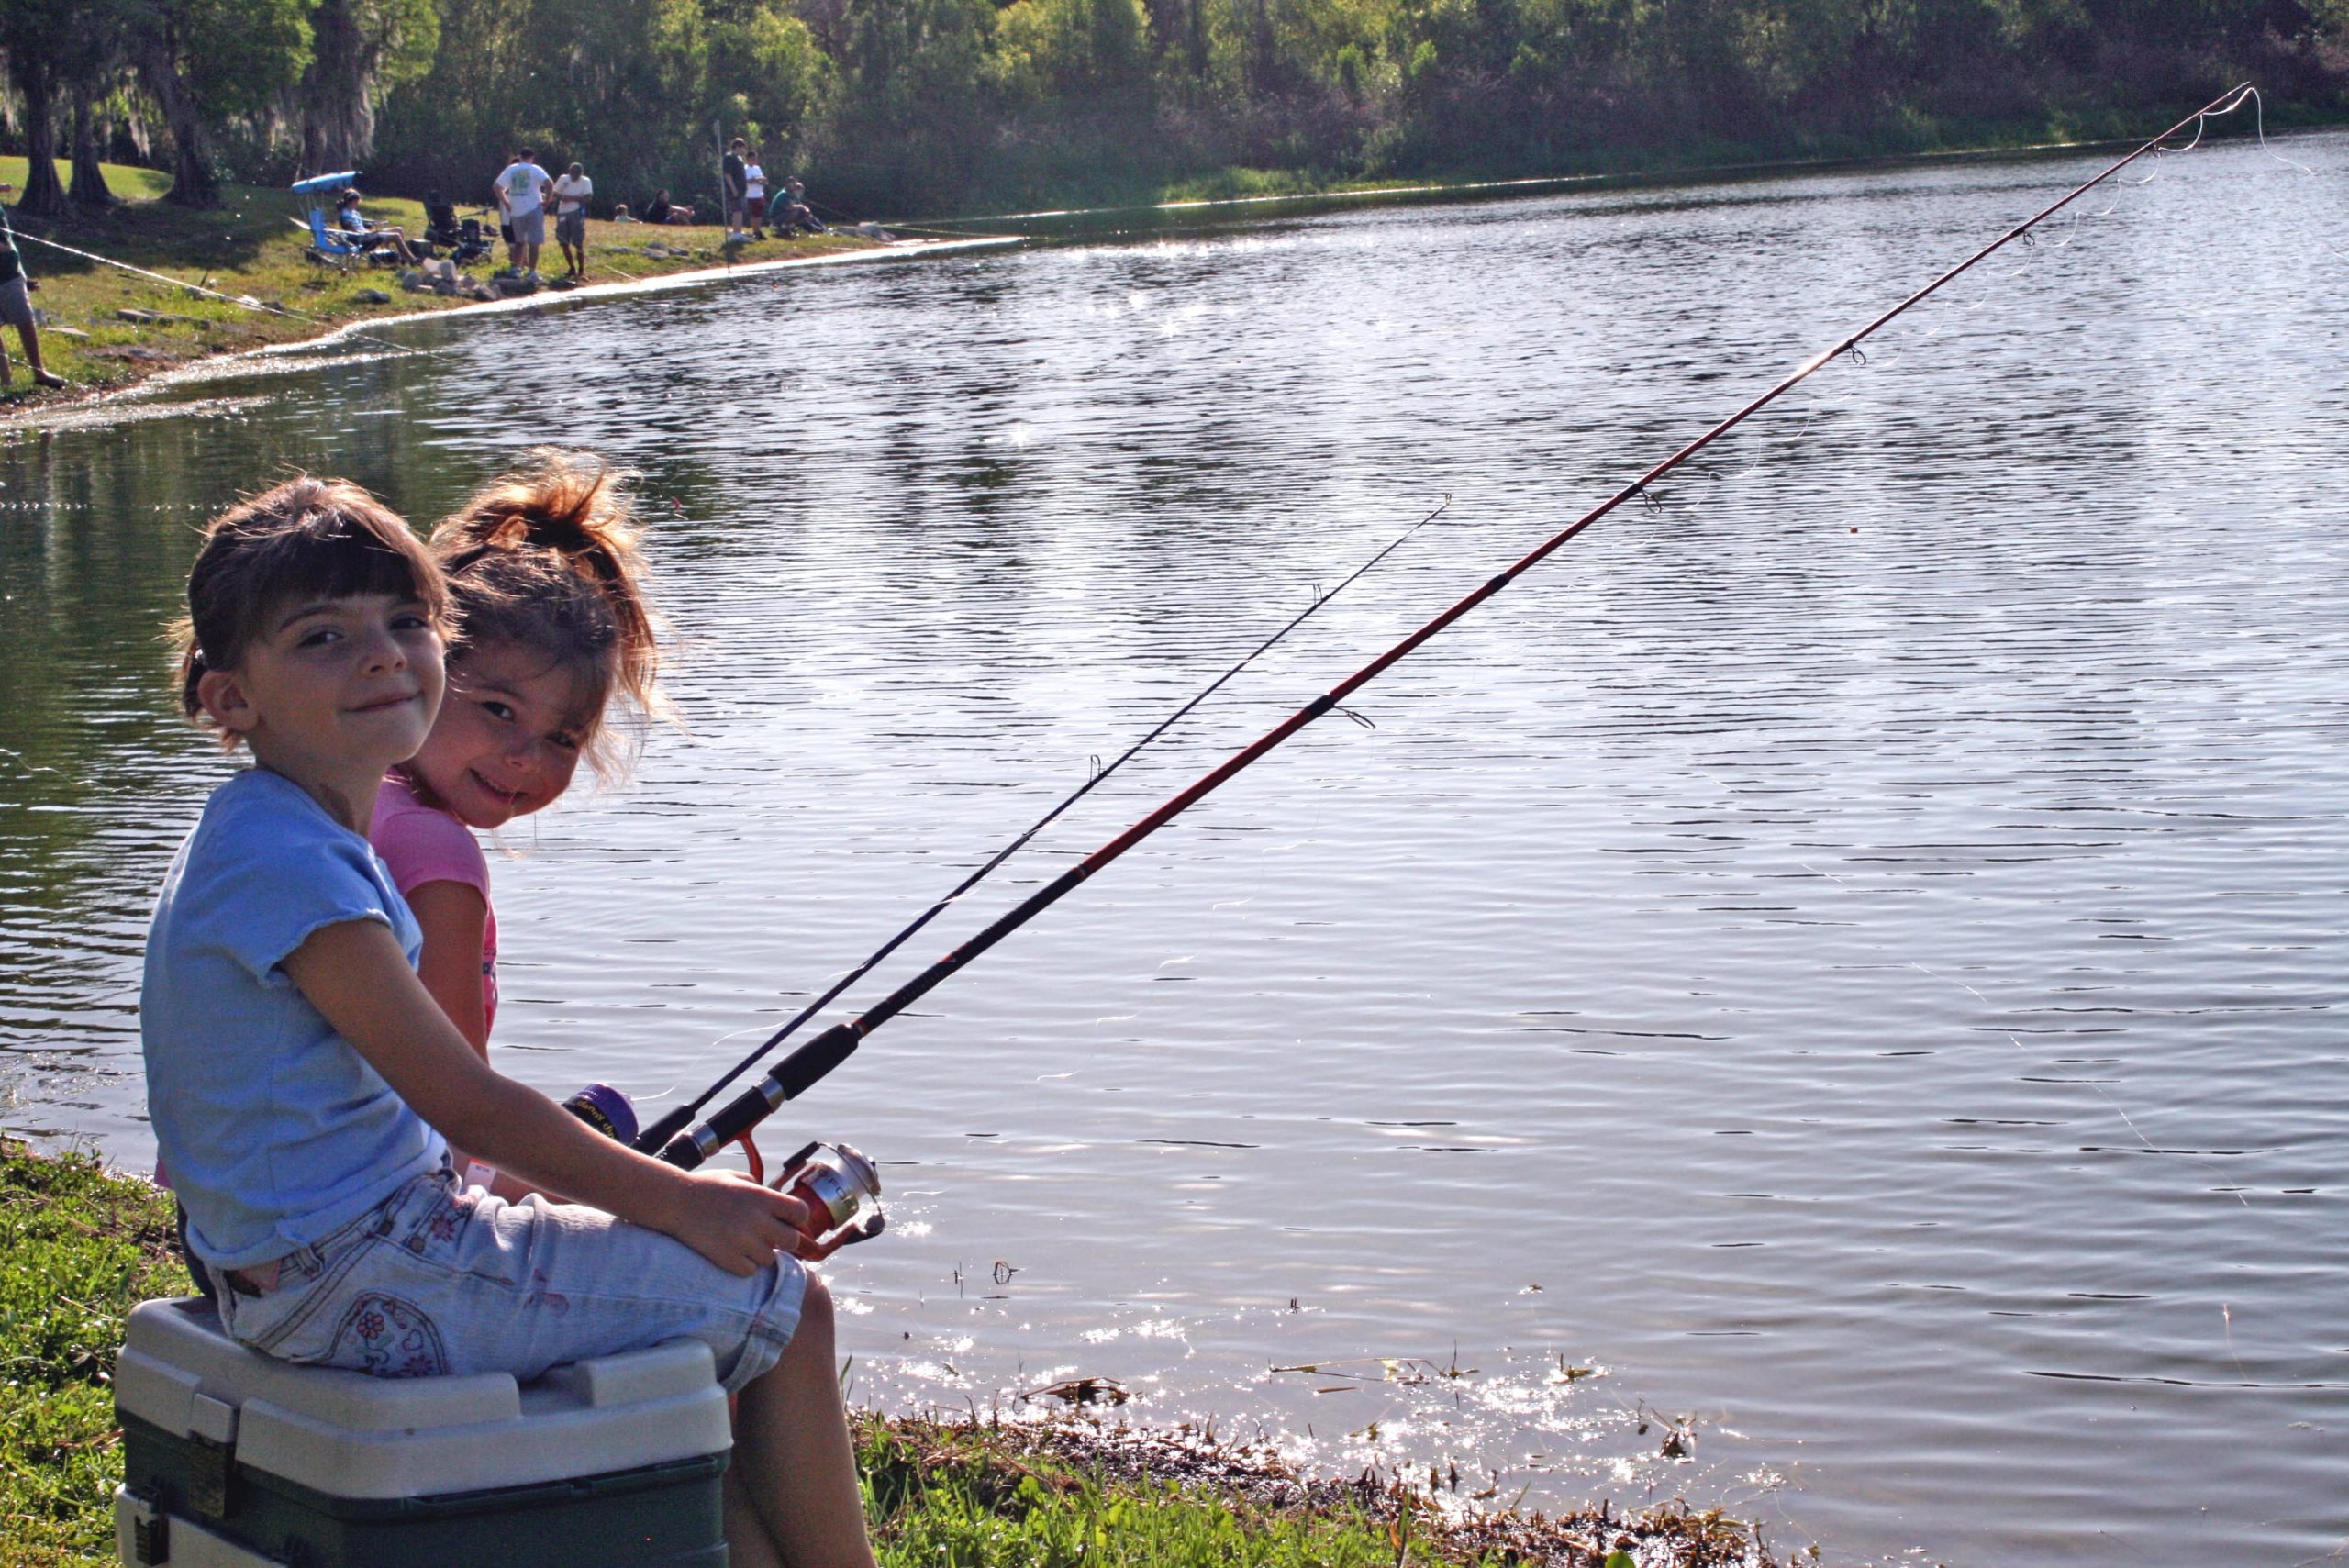
<instances>
[{"instance_id":1,"label":"bare arm of girl in blue, reaching to the reel","mask_svg":"<svg viewBox=\"0 0 2349 1568\"><path fill-rule=\"evenodd\" d=\"M679 1171L590 1131L545 1094L491 1073L425 991L390 927L324 925L284 972L416 1115L505 1171L662 1230L733 1275L796 1251L806 1207L726 1174Z\"/></svg>"}]
</instances>

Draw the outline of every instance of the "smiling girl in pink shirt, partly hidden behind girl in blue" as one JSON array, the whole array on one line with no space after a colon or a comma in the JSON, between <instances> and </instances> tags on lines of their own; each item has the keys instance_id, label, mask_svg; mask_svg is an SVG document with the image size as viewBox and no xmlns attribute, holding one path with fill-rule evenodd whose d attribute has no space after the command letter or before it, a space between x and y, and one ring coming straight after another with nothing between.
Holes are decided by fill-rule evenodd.
<instances>
[{"instance_id":1,"label":"smiling girl in pink shirt, partly hidden behind girl in blue","mask_svg":"<svg viewBox=\"0 0 2349 1568\"><path fill-rule=\"evenodd\" d=\"M529 453L432 530L432 554L449 699L366 836L423 927L425 991L486 1061L498 915L474 833L550 805L583 756L608 768L606 709L658 711L660 648L625 479L590 453Z\"/></svg>"}]
</instances>

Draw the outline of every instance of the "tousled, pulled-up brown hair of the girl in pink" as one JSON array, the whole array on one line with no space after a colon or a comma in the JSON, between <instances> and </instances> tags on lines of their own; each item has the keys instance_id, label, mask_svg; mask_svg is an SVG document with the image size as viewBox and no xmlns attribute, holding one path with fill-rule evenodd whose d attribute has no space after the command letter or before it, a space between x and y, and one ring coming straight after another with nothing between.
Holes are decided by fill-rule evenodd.
<instances>
[{"instance_id":1,"label":"tousled, pulled-up brown hair of the girl in pink","mask_svg":"<svg viewBox=\"0 0 2349 1568\"><path fill-rule=\"evenodd\" d=\"M432 530L458 617L449 662L503 643L568 667L580 683L580 739L599 770L613 765L597 744L613 697L639 718L667 711L632 479L594 453L538 446Z\"/></svg>"}]
</instances>

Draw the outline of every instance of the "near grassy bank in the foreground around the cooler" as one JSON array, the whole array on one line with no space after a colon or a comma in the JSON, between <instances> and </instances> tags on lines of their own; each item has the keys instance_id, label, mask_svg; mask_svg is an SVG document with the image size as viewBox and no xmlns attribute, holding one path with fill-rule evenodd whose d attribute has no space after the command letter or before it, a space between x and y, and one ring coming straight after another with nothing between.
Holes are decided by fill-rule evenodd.
<instances>
[{"instance_id":1,"label":"near grassy bank in the foreground around the cooler","mask_svg":"<svg viewBox=\"0 0 2349 1568\"><path fill-rule=\"evenodd\" d=\"M108 1378L122 1319L188 1291L171 1204L82 1155L0 1138L0 1542L9 1568L113 1561L122 1476ZM1769 1568L1752 1533L1677 1507L1452 1516L1388 1481L1301 1476L1271 1451L1099 1425L857 1418L890 1568Z\"/></svg>"}]
</instances>

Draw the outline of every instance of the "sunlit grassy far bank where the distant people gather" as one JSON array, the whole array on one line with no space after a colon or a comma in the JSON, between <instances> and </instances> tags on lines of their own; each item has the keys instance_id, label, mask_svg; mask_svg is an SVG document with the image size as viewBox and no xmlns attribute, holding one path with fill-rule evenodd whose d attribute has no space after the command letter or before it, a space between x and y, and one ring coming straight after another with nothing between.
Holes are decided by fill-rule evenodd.
<instances>
[{"instance_id":1,"label":"sunlit grassy far bank where the distant people gather","mask_svg":"<svg viewBox=\"0 0 2349 1568\"><path fill-rule=\"evenodd\" d=\"M26 160L0 157L0 181L21 188L23 171ZM16 333L7 331L12 376L7 387L0 387L0 420L26 408L124 387L193 359L298 343L352 322L460 310L474 303L465 296L411 293L402 289L397 268L336 270L310 261L308 230L289 221L294 197L284 190L226 185L221 207L188 211L160 200L169 185L164 174L108 164L106 178L124 202L101 216L42 223L12 211L16 249L38 284L33 305L47 317L40 329L42 359L73 385L56 392L33 387L16 354ZM371 223L397 225L409 235L420 235L425 225L420 202L366 202L362 211ZM745 263L794 261L879 244L860 235L761 239L735 246L726 246L723 239L726 232L716 225L648 228L592 221L587 282L695 272L723 265L728 254ZM141 277L56 246L106 256L174 282ZM498 246L496 256L470 263L467 272L486 279L503 265L505 246ZM538 265L550 279L561 272L561 249L552 235ZM240 305L240 298L249 303Z\"/></svg>"}]
</instances>

